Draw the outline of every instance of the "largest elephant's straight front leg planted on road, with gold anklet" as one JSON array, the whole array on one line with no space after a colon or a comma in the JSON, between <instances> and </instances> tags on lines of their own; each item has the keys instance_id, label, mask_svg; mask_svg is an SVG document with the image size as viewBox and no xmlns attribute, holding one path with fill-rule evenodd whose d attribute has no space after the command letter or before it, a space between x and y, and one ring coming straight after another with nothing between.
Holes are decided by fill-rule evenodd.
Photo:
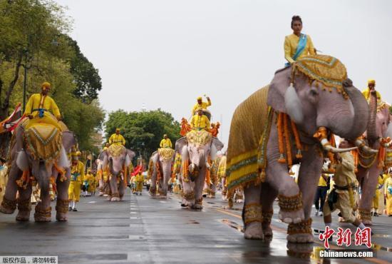
<instances>
[{"instance_id":1,"label":"largest elephant's straight front leg planted on road, with gold anklet","mask_svg":"<svg viewBox=\"0 0 392 264\"><path fill-rule=\"evenodd\" d=\"M290 223L287 229L287 240L292 243L313 243L314 236L311 230L311 207L317 183L321 176L324 159L316 151L304 153L299 168L298 186L302 193L305 219L300 223Z\"/></svg>"}]
</instances>

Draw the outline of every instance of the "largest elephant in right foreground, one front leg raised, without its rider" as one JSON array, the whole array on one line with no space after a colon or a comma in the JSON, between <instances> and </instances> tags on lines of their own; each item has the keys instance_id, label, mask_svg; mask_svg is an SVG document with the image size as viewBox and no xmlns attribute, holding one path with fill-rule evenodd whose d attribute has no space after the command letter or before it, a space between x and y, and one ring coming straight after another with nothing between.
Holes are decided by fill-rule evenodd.
<instances>
[{"instance_id":1,"label":"largest elephant in right foreground, one front leg raised, without its rider","mask_svg":"<svg viewBox=\"0 0 392 264\"><path fill-rule=\"evenodd\" d=\"M239 104L230 126L227 185L244 188L244 238L272 236L278 198L279 218L289 224L287 240L312 243L311 206L324 154L354 150L332 146L331 133L355 141L368 118L368 103L345 66L322 55L276 71L269 86ZM289 168L298 163L297 184Z\"/></svg>"}]
</instances>

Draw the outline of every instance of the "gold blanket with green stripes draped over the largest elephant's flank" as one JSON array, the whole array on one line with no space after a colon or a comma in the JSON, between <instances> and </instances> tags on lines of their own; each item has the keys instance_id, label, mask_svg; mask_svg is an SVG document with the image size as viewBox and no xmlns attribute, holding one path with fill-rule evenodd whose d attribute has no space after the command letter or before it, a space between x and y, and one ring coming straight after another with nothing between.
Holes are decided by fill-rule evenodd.
<instances>
[{"instance_id":1,"label":"gold blanket with green stripes draped over the largest elephant's flank","mask_svg":"<svg viewBox=\"0 0 392 264\"><path fill-rule=\"evenodd\" d=\"M268 122L269 86L259 89L234 111L227 148L227 188L259 183L260 139Z\"/></svg>"}]
</instances>

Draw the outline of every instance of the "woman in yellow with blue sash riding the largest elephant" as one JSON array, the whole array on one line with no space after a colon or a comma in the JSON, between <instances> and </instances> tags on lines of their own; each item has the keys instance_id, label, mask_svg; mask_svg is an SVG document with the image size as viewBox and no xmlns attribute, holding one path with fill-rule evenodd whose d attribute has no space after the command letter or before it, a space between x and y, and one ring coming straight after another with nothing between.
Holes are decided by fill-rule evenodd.
<instances>
[{"instance_id":1,"label":"woman in yellow with blue sash riding the largest elephant","mask_svg":"<svg viewBox=\"0 0 392 264\"><path fill-rule=\"evenodd\" d=\"M304 56L316 54L310 36L301 34L302 20L300 16L292 17L292 30L293 34L284 38L284 59L288 61L286 66Z\"/></svg>"}]
</instances>

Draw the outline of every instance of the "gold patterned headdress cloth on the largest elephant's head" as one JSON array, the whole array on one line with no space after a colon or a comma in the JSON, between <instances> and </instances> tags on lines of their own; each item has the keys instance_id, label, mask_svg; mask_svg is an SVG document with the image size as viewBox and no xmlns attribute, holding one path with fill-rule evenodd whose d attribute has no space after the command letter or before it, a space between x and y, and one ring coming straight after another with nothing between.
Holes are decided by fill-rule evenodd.
<instances>
[{"instance_id":1,"label":"gold patterned headdress cloth on the largest elephant's head","mask_svg":"<svg viewBox=\"0 0 392 264\"><path fill-rule=\"evenodd\" d=\"M327 55L306 56L294 63L292 71L293 81L295 73L299 71L309 78L309 82L316 81L316 87L321 86L330 92L335 88L344 98L349 98L343 87L343 81L347 78L346 67L339 59Z\"/></svg>"}]
</instances>

